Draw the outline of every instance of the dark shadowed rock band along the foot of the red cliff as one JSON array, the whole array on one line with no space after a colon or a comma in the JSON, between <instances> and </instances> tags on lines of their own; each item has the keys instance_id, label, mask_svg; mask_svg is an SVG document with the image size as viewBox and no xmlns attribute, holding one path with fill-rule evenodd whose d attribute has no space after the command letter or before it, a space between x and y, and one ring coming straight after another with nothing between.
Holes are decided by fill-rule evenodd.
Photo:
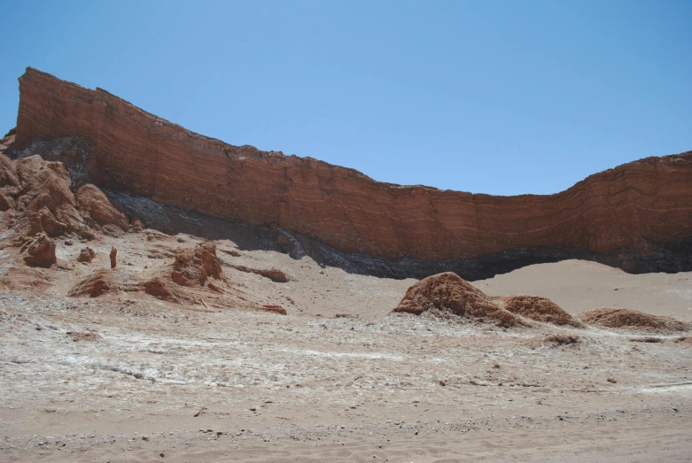
<instances>
[{"instance_id":1,"label":"dark shadowed rock band along the foot of the red cliff","mask_svg":"<svg viewBox=\"0 0 692 463\"><path fill-rule=\"evenodd\" d=\"M222 220L151 199L136 197L124 191L105 189L105 194L128 214L144 220L149 228L176 234L186 233L206 239L230 239L240 249L281 251L294 259L309 256L324 266L335 266L351 274L382 278L422 279L432 274L454 272L464 280L483 280L506 274L523 266L582 259L619 267L630 274L692 271L692 238L678 243L657 243L658 251L650 255L630 249L592 253L558 246L517 248L474 259L447 259L428 262L420 259L386 259L338 251L306 235L276 227L253 227L234 220Z\"/></svg>"}]
</instances>

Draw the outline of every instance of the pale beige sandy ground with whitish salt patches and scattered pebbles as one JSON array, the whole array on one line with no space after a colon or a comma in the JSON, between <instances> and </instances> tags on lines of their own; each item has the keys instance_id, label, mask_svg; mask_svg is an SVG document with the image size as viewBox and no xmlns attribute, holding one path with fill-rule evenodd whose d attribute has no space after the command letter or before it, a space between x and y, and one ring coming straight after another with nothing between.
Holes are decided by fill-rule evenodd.
<instances>
[{"instance_id":1,"label":"pale beige sandy ground with whitish salt patches and scattered pebbles","mask_svg":"<svg viewBox=\"0 0 692 463\"><path fill-rule=\"evenodd\" d=\"M75 263L82 243L60 242L70 266L42 271L44 286L0 290L0 460L692 461L692 343L674 343L680 334L634 343L641 333L393 315L414 281L276 252L233 257L230 242L217 243L230 284L288 316L218 298L66 296L113 245L127 277L169 264L148 256L180 240L196 241L104 237L88 265ZM12 271L4 259L0 276ZM572 260L475 284L570 313L614 305L689 321L690 278ZM580 341L542 342L556 333Z\"/></svg>"}]
</instances>

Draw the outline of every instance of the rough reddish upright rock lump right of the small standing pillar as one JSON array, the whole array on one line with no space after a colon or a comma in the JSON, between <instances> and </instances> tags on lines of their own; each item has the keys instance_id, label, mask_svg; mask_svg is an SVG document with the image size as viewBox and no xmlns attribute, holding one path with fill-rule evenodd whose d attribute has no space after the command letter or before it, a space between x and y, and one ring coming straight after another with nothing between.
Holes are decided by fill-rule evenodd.
<instances>
[{"instance_id":1,"label":"rough reddish upright rock lump right of the small standing pillar","mask_svg":"<svg viewBox=\"0 0 692 463\"><path fill-rule=\"evenodd\" d=\"M207 278L222 278L221 261L216 257L214 243L201 243L194 248L175 250L173 281L182 286L204 286Z\"/></svg>"}]
</instances>

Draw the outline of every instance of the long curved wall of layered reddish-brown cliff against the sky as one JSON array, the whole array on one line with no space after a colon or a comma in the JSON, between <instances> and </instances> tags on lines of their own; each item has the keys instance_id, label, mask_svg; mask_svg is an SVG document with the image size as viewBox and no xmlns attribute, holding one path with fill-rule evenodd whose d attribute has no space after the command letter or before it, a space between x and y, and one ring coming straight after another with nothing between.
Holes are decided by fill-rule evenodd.
<instances>
[{"instance_id":1,"label":"long curved wall of layered reddish-brown cliff against the sky","mask_svg":"<svg viewBox=\"0 0 692 463\"><path fill-rule=\"evenodd\" d=\"M607 256L645 271L647 256L682 246L685 261L673 270L692 266L692 151L618 166L556 195L494 197L382 183L313 158L232 146L31 68L19 90L19 147L85 137L99 186L185 211L274 222L338 251L396 261L540 250L542 260Z\"/></svg>"}]
</instances>

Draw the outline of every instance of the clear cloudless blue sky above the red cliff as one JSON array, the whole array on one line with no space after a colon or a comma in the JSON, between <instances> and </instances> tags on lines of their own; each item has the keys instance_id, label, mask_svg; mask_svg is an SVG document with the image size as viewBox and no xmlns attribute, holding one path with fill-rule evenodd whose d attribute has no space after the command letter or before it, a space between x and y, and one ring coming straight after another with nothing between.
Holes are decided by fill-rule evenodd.
<instances>
[{"instance_id":1,"label":"clear cloudless blue sky above the red cliff","mask_svg":"<svg viewBox=\"0 0 692 463\"><path fill-rule=\"evenodd\" d=\"M379 181L555 193L692 150L692 2L4 2L33 66L227 143Z\"/></svg>"}]
</instances>

